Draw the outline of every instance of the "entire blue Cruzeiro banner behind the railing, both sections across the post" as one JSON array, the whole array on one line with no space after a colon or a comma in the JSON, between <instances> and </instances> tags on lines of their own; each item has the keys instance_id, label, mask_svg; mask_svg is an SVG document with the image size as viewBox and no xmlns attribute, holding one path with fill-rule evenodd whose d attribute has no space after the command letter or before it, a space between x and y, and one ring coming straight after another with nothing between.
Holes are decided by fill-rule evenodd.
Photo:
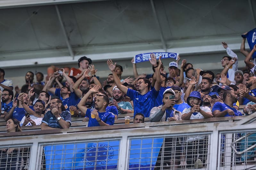
<instances>
[{"instance_id":1,"label":"entire blue Cruzeiro banner behind the railing, both sections across the post","mask_svg":"<svg viewBox=\"0 0 256 170\"><path fill-rule=\"evenodd\" d=\"M163 138L131 139L129 169L154 169ZM117 169L120 141L46 145L45 166L54 170Z\"/></svg>"}]
</instances>

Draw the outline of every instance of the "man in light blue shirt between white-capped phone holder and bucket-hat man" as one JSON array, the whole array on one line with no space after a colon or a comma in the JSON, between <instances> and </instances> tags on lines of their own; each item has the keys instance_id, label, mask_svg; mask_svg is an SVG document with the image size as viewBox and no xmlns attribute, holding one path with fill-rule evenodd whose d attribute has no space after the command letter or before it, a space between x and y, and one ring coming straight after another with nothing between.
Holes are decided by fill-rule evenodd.
<instances>
[{"instance_id":1,"label":"man in light blue shirt between white-capped phone holder and bucket-hat man","mask_svg":"<svg viewBox=\"0 0 256 170\"><path fill-rule=\"evenodd\" d=\"M175 105L173 106L173 108L182 113L185 108L189 108L190 106L181 100L182 92L178 86L173 86L171 87L171 89L175 92Z\"/></svg>"}]
</instances>

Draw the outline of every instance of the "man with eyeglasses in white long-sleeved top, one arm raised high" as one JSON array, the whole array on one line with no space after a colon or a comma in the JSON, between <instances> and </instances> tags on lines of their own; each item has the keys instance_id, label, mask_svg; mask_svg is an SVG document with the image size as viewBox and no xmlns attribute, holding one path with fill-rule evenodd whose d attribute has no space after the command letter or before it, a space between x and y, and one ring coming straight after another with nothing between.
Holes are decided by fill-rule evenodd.
<instances>
[{"instance_id":1,"label":"man with eyeglasses in white long-sleeved top, one arm raised high","mask_svg":"<svg viewBox=\"0 0 256 170\"><path fill-rule=\"evenodd\" d=\"M237 55L228 47L227 43L222 42L222 45L229 56L222 57L221 65L224 69L221 71L221 75L227 75L228 80L235 83L235 71L238 67Z\"/></svg>"}]
</instances>

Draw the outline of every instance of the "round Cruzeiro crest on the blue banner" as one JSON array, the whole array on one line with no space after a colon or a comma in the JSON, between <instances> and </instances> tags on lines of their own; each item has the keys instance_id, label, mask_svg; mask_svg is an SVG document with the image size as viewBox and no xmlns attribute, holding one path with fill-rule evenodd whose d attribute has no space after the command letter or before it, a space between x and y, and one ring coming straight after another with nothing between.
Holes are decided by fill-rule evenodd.
<instances>
[{"instance_id":1,"label":"round Cruzeiro crest on the blue banner","mask_svg":"<svg viewBox=\"0 0 256 170\"><path fill-rule=\"evenodd\" d=\"M95 163L100 166L105 165L113 156L114 150L110 145L99 143L88 146L87 151L81 153L81 160L86 161L87 166L94 166Z\"/></svg>"}]
</instances>

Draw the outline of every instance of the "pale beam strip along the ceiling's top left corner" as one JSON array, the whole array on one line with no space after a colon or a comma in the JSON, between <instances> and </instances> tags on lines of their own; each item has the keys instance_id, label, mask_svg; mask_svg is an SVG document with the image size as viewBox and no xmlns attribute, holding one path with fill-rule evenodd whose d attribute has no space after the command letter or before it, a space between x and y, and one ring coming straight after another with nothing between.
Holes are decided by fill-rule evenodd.
<instances>
[{"instance_id":1,"label":"pale beam strip along the ceiling's top left corner","mask_svg":"<svg viewBox=\"0 0 256 170\"><path fill-rule=\"evenodd\" d=\"M54 4L69 4L79 2L94 2L105 0L1 0L0 9L3 8L17 8L25 6L41 6L41 5L54 5Z\"/></svg>"}]
</instances>

